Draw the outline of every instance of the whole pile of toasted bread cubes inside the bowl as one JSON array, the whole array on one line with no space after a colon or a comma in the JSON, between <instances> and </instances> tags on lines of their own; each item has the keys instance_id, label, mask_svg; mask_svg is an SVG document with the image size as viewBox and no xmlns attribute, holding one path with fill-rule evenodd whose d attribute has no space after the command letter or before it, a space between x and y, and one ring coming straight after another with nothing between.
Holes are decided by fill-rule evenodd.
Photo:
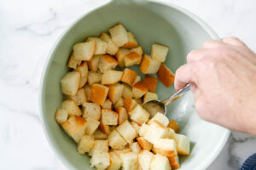
<instances>
[{"instance_id":1,"label":"whole pile of toasted bread cubes inside the bowl","mask_svg":"<svg viewBox=\"0 0 256 170\"><path fill-rule=\"evenodd\" d=\"M91 167L118 170L169 170L180 167L178 155L189 155L189 138L178 134L177 122L157 113L150 117L143 103L158 99L158 79L171 86L174 75L164 61L168 47L153 43L151 55L122 24L73 46L72 71L61 79L66 96L55 121L87 153ZM136 71L139 65L143 81ZM115 68L125 67L123 71ZM120 70L120 69L119 69ZM157 77L149 76L156 74Z\"/></svg>"}]
</instances>

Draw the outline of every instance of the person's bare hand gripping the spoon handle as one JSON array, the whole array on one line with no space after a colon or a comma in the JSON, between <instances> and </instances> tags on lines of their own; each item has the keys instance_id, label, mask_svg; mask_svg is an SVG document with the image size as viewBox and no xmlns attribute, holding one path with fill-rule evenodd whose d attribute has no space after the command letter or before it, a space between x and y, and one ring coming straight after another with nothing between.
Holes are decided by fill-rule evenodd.
<instances>
[{"instance_id":1,"label":"person's bare hand gripping the spoon handle","mask_svg":"<svg viewBox=\"0 0 256 170\"><path fill-rule=\"evenodd\" d=\"M208 40L187 55L175 88L191 83L195 109L208 122L256 136L256 54L238 38Z\"/></svg>"}]
</instances>

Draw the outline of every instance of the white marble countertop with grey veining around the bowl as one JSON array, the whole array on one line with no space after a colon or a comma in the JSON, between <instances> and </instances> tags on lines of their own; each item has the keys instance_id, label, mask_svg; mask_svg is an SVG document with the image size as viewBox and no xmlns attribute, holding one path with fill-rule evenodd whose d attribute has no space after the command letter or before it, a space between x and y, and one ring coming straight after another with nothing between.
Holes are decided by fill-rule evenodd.
<instances>
[{"instance_id":1,"label":"white marble countertop with grey veining around the bowl","mask_svg":"<svg viewBox=\"0 0 256 170\"><path fill-rule=\"evenodd\" d=\"M56 38L105 0L0 1L0 167L64 169L49 149L38 118L43 63ZM220 37L240 37L256 51L256 1L169 0L207 21ZM256 138L232 132L207 170L240 169Z\"/></svg>"}]
</instances>

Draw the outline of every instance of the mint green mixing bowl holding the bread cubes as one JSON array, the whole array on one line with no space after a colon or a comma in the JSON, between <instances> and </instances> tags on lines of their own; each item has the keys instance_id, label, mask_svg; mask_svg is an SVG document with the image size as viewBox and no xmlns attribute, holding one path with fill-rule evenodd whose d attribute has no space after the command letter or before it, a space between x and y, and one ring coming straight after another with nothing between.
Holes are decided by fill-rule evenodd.
<instances>
[{"instance_id":1,"label":"mint green mixing bowl holding the bread cubes","mask_svg":"<svg viewBox=\"0 0 256 170\"><path fill-rule=\"evenodd\" d=\"M65 31L49 53L40 88L40 118L49 144L67 169L91 169L89 156L81 156L77 144L55 122L55 110L60 108L63 95L60 80L67 73L67 59L73 44L86 37L98 37L102 31L121 22L137 38L144 54L150 54L151 44L159 42L169 46L165 64L176 71L186 62L191 49L201 48L207 39L218 39L217 34L194 14L170 4L127 3L114 1L84 14ZM141 74L137 66L131 67ZM158 82L156 92L165 99L174 92L173 85L166 88ZM182 156L181 168L206 169L222 150L230 131L205 122L194 109L194 96L187 94L167 108L167 116L181 125L181 132L191 139L190 156Z\"/></svg>"}]
</instances>

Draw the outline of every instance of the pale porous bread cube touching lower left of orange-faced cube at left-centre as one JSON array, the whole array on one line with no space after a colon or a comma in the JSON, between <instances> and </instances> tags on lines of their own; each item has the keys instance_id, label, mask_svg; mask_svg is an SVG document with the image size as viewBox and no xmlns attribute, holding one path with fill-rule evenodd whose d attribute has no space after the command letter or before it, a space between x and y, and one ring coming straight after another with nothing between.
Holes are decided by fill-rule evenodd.
<instances>
[{"instance_id":1,"label":"pale porous bread cube touching lower left of orange-faced cube at left-centre","mask_svg":"<svg viewBox=\"0 0 256 170\"><path fill-rule=\"evenodd\" d=\"M95 103L84 103L83 104L83 117L86 119L87 117L92 117L96 120L100 120L102 115L101 106Z\"/></svg>"}]
</instances>

